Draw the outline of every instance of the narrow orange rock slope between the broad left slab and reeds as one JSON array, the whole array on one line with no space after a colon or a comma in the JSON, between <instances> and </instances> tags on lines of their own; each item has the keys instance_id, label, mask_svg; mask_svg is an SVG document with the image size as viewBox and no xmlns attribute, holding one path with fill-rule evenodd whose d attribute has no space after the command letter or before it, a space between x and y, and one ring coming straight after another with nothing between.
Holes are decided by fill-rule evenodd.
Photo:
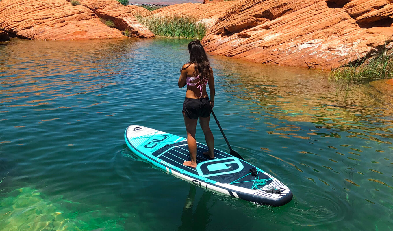
<instances>
[{"instance_id":1,"label":"narrow orange rock slope between the broad left slab and reeds","mask_svg":"<svg viewBox=\"0 0 393 231\"><path fill-rule=\"evenodd\" d=\"M129 7L121 5L116 0L78 0L82 6L91 9L99 18L112 20L115 28L124 31L129 29L134 37L150 38L154 34L142 25L134 15L132 15Z\"/></svg>"}]
</instances>

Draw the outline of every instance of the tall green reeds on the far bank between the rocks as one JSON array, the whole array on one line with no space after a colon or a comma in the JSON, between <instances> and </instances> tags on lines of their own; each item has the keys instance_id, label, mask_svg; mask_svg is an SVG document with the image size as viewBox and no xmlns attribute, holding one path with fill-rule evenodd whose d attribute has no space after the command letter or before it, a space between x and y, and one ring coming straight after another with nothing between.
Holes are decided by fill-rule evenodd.
<instances>
[{"instance_id":1,"label":"tall green reeds on the far bank between the rocks","mask_svg":"<svg viewBox=\"0 0 393 231\"><path fill-rule=\"evenodd\" d=\"M206 25L193 16L182 14L143 16L135 18L155 35L171 38L199 38L206 35Z\"/></svg>"}]
</instances>

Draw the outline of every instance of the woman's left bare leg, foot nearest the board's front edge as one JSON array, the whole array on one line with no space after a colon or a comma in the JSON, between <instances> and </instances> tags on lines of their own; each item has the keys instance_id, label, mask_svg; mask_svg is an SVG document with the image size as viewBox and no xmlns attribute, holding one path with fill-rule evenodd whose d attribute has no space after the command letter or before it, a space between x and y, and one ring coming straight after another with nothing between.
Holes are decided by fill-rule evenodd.
<instances>
[{"instance_id":1,"label":"woman's left bare leg, foot nearest the board's front edge","mask_svg":"<svg viewBox=\"0 0 393 231\"><path fill-rule=\"evenodd\" d=\"M195 130L196 122L198 119L190 119L184 115L185 130L187 130L187 145L190 152L191 161L184 161L183 165L196 168L196 140L195 140Z\"/></svg>"}]
</instances>

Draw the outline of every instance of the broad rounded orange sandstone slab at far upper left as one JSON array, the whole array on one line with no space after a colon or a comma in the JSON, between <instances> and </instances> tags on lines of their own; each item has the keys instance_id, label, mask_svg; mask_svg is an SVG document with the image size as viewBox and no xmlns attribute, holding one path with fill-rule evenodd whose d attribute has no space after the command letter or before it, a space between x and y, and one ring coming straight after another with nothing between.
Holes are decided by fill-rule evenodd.
<instances>
[{"instance_id":1,"label":"broad rounded orange sandstone slab at far upper left","mask_svg":"<svg viewBox=\"0 0 393 231\"><path fill-rule=\"evenodd\" d=\"M84 6L65 0L2 0L0 25L20 38L75 40L124 37Z\"/></svg>"}]
</instances>

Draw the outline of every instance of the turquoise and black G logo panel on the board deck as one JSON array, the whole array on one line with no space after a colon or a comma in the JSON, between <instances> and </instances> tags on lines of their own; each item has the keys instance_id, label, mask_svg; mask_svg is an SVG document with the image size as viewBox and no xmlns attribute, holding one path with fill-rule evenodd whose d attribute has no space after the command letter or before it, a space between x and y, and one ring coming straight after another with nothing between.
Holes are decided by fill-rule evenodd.
<instances>
[{"instance_id":1,"label":"turquoise and black G logo panel on the board deck","mask_svg":"<svg viewBox=\"0 0 393 231\"><path fill-rule=\"evenodd\" d=\"M196 171L199 176L209 177L240 172L243 168L244 166L239 159L227 157L204 161L196 166Z\"/></svg>"}]
</instances>

